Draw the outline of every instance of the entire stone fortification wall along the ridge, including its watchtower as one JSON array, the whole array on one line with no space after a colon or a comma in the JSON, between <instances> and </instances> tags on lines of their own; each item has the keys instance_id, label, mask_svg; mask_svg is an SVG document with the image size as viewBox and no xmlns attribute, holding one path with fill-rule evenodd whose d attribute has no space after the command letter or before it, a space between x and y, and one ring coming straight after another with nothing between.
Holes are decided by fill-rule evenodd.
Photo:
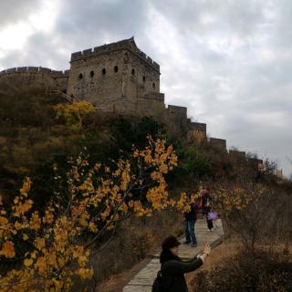
<instances>
[{"instance_id":1,"label":"entire stone fortification wall along the ridge, including its watchtower","mask_svg":"<svg viewBox=\"0 0 292 292\"><path fill-rule=\"evenodd\" d=\"M151 116L162 121L177 137L200 132L206 141L206 124L187 117L187 108L165 106L160 92L160 66L139 49L133 38L73 53L70 70L41 67L9 68L0 72L0 87L11 84L26 89L59 89L86 99L105 114ZM218 151L226 141L210 138ZM229 151L237 162L246 162L244 151ZM250 163L262 164L254 160Z\"/></svg>"}]
</instances>

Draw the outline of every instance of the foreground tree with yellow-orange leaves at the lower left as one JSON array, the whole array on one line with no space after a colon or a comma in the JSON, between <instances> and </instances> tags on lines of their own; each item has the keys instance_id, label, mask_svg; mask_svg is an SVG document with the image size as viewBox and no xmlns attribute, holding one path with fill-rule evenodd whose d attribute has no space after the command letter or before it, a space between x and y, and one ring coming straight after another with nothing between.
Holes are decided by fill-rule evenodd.
<instances>
[{"instance_id":1,"label":"foreground tree with yellow-orange leaves at the lower left","mask_svg":"<svg viewBox=\"0 0 292 292\"><path fill-rule=\"evenodd\" d=\"M121 220L175 205L165 174L177 157L165 141L149 137L144 150L111 169L89 165L82 153L69 163L67 191L56 192L43 214L29 198L29 178L10 208L0 201L0 259L18 263L0 277L1 291L68 291L74 276L93 275L92 247L99 252Z\"/></svg>"}]
</instances>

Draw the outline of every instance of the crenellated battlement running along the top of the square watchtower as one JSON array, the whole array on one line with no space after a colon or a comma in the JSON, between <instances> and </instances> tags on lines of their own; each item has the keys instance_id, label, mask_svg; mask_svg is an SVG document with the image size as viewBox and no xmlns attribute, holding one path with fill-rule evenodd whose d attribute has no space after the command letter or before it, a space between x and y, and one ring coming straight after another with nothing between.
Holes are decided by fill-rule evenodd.
<instances>
[{"instance_id":1,"label":"crenellated battlement running along the top of the square watchtower","mask_svg":"<svg viewBox=\"0 0 292 292\"><path fill-rule=\"evenodd\" d=\"M135 56L140 57L142 61L147 63L157 71L160 71L160 66L156 62L154 62L151 57L146 56L144 52L141 51L139 47L136 46L134 38L131 37L129 39L123 39L116 43L110 43L108 45L103 45L94 48L88 48L83 51L75 52L71 55L71 62L77 61L79 59L84 59L88 57L98 56L101 54L108 54L111 52L119 51L122 49L127 49Z\"/></svg>"}]
</instances>

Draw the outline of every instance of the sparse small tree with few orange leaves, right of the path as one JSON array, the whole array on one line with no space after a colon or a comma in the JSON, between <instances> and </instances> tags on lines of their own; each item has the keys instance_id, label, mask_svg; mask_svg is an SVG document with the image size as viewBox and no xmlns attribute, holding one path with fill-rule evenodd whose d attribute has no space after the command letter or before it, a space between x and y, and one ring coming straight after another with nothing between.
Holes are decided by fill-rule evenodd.
<instances>
[{"instance_id":1,"label":"sparse small tree with few orange leaves, right of the path","mask_svg":"<svg viewBox=\"0 0 292 292\"><path fill-rule=\"evenodd\" d=\"M214 207L223 214L226 224L240 235L245 247L254 251L255 244L263 239L267 223L276 215L276 193L262 184L246 182L239 185L217 185Z\"/></svg>"}]
</instances>

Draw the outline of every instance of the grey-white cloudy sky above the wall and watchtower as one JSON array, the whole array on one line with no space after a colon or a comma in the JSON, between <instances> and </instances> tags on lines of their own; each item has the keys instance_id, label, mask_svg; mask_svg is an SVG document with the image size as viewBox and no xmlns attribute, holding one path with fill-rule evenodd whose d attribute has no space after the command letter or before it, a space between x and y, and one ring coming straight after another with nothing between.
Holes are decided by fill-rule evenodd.
<instances>
[{"instance_id":1,"label":"grey-white cloudy sky above the wall and watchtower","mask_svg":"<svg viewBox=\"0 0 292 292\"><path fill-rule=\"evenodd\" d=\"M289 175L291 16L291 0L0 0L0 70L67 69L72 52L134 36L167 104Z\"/></svg>"}]
</instances>

